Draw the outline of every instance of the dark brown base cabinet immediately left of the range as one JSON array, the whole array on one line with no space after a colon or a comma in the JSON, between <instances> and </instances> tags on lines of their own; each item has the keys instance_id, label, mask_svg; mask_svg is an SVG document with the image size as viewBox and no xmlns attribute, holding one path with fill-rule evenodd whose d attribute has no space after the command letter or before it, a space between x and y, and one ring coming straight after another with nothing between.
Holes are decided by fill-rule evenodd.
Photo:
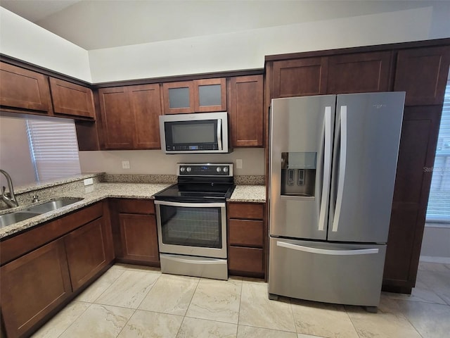
<instances>
[{"instance_id":1,"label":"dark brown base cabinet immediately left of the range","mask_svg":"<svg viewBox=\"0 0 450 338\"><path fill-rule=\"evenodd\" d=\"M159 266L158 232L153 201L111 201L111 224L115 253L119 261Z\"/></svg>"}]
</instances>

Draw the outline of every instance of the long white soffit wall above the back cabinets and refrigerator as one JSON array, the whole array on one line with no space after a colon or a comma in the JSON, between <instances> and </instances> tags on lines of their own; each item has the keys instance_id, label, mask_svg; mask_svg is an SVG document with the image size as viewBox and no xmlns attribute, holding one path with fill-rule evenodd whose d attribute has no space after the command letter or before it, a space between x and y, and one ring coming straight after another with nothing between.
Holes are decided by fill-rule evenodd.
<instances>
[{"instance_id":1,"label":"long white soffit wall above the back cabinets and refrigerator","mask_svg":"<svg viewBox=\"0 0 450 338\"><path fill-rule=\"evenodd\" d=\"M91 75L93 82L108 82L245 70L263 68L264 56L271 54L450 37L450 20L435 23L434 13L430 6L96 49L89 51ZM450 9L446 14L448 19Z\"/></svg>"}]
</instances>

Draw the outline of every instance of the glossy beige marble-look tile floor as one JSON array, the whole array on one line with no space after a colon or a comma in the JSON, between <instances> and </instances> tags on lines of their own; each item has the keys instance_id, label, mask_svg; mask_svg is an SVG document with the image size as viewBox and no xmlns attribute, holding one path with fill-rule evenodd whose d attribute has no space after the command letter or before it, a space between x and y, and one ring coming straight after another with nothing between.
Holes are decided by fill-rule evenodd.
<instances>
[{"instance_id":1,"label":"glossy beige marble-look tile floor","mask_svg":"<svg viewBox=\"0 0 450 338\"><path fill-rule=\"evenodd\" d=\"M163 275L114 265L32 337L450 337L450 265L420 263L411 296L383 292L378 313L284 298L261 280Z\"/></svg>"}]
</instances>

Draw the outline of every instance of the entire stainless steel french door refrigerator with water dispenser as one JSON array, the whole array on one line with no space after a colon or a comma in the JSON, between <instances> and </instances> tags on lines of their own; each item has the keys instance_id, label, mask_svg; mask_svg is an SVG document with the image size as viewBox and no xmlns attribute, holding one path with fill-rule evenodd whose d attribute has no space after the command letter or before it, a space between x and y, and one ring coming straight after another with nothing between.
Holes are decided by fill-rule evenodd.
<instances>
[{"instance_id":1,"label":"entire stainless steel french door refrigerator with water dispenser","mask_svg":"<svg viewBox=\"0 0 450 338\"><path fill-rule=\"evenodd\" d=\"M376 309L404 96L271 101L269 298Z\"/></svg>"}]
</instances>

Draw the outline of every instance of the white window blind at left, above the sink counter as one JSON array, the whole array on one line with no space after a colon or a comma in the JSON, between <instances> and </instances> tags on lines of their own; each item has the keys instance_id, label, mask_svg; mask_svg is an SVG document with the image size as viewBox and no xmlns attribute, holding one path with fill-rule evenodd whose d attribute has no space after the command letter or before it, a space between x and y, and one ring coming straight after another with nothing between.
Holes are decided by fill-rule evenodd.
<instances>
[{"instance_id":1,"label":"white window blind at left, above the sink counter","mask_svg":"<svg viewBox=\"0 0 450 338\"><path fill-rule=\"evenodd\" d=\"M27 120L30 153L40 181L81 173L73 120Z\"/></svg>"}]
</instances>

